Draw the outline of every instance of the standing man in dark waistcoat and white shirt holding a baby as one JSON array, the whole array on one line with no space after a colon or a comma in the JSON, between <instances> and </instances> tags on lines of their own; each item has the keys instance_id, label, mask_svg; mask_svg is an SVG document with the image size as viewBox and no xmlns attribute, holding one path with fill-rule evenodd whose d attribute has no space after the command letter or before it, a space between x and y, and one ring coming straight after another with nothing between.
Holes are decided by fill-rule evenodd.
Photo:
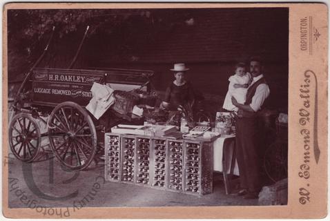
<instances>
[{"instance_id":1,"label":"standing man in dark waistcoat and white shirt holding a baby","mask_svg":"<svg viewBox=\"0 0 330 221\"><path fill-rule=\"evenodd\" d=\"M262 127L260 124L260 111L267 97L269 97L269 86L262 74L263 65L260 57L250 59L250 72L253 81L246 93L245 104L237 103L232 97L233 105L237 106L236 119L236 150L237 164L240 171L241 190L237 195L243 195L244 199L258 198L262 189L260 155Z\"/></svg>"}]
</instances>

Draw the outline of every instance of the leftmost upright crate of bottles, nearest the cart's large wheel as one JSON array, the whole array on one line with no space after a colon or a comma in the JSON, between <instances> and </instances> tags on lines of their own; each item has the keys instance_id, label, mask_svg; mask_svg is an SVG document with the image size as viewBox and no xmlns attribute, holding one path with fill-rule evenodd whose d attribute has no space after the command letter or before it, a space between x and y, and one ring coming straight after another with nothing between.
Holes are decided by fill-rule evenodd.
<instances>
[{"instance_id":1,"label":"leftmost upright crate of bottles, nearest the cart's large wheel","mask_svg":"<svg viewBox=\"0 0 330 221\"><path fill-rule=\"evenodd\" d=\"M120 181L120 135L115 133L106 133L105 140L105 155L106 155L106 166L105 166L105 177L106 180L119 182Z\"/></svg>"}]
</instances>

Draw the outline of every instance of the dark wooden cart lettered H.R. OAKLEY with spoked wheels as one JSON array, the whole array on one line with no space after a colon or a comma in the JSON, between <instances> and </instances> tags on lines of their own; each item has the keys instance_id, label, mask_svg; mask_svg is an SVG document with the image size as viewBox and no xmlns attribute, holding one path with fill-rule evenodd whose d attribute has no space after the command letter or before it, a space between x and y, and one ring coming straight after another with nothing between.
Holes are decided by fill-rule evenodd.
<instances>
[{"instance_id":1,"label":"dark wooden cart lettered H.R. OAKLEY with spoked wheels","mask_svg":"<svg viewBox=\"0 0 330 221\"><path fill-rule=\"evenodd\" d=\"M102 128L101 119L85 108L93 97L93 84L110 86L119 93L123 88L148 90L152 75L148 70L33 68L14 102L15 115L9 126L12 153L23 162L32 162L40 151L41 137L47 136L52 153L62 165L70 170L86 168L99 148L97 140L103 141L101 131L109 129ZM123 105L126 103L113 106ZM39 122L46 124L44 133Z\"/></svg>"}]
</instances>

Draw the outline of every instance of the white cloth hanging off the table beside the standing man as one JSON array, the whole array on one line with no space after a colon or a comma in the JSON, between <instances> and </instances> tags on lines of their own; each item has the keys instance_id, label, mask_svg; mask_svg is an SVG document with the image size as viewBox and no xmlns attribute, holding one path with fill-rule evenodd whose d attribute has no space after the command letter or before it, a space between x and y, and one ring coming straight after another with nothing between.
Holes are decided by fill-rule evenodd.
<instances>
[{"instance_id":1,"label":"white cloth hanging off the table beside the standing man","mask_svg":"<svg viewBox=\"0 0 330 221\"><path fill-rule=\"evenodd\" d=\"M223 148L224 148L224 141L228 138L233 138L235 137L235 135L221 135L221 137L218 137L217 140L215 140L213 142L213 171L220 171L222 172L222 157L223 157ZM227 148L227 153L226 153L226 157L227 159L229 159L227 161L227 173L230 173L230 169L231 169L231 159L232 159L232 155L233 155L233 149L234 149L234 145L235 142L229 142L227 143L230 146L230 148ZM238 172L238 166L237 166L237 161L235 161L235 166L234 166L234 170L233 170L233 174L235 175L239 175Z\"/></svg>"}]
</instances>

